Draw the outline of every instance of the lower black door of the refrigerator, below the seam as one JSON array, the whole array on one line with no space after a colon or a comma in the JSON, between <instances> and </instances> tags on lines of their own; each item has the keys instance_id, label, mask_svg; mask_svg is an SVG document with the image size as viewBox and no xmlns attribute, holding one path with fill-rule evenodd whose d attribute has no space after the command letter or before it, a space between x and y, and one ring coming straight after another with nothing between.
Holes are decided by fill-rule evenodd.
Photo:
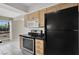
<instances>
[{"instance_id":1,"label":"lower black door of the refrigerator, below the seam","mask_svg":"<svg viewBox=\"0 0 79 59\"><path fill-rule=\"evenodd\" d=\"M72 55L77 54L78 32L52 31L47 32L47 54Z\"/></svg>"}]
</instances>

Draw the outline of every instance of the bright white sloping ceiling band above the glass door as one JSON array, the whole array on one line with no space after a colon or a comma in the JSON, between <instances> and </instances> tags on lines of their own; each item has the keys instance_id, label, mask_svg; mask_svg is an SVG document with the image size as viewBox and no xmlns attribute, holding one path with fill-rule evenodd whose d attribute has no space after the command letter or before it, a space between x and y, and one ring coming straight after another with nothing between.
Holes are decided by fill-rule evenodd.
<instances>
[{"instance_id":1,"label":"bright white sloping ceiling band above the glass door","mask_svg":"<svg viewBox=\"0 0 79 59\"><path fill-rule=\"evenodd\" d=\"M5 16L5 17L11 17L11 18L16 18L20 15L24 15L25 12L15 9L13 7L10 7L8 5L0 3L0 16Z\"/></svg>"}]
</instances>

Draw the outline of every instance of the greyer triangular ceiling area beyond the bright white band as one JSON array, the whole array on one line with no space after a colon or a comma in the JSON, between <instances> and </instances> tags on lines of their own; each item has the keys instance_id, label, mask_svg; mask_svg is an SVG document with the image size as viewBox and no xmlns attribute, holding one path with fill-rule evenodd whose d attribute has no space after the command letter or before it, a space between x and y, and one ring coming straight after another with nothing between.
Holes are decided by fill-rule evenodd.
<instances>
[{"instance_id":1,"label":"greyer triangular ceiling area beyond the bright white band","mask_svg":"<svg viewBox=\"0 0 79 59\"><path fill-rule=\"evenodd\" d=\"M38 10L39 8L54 5L54 3L6 3L6 5L14 7L16 9L20 9L24 12L31 12L34 10Z\"/></svg>"}]
</instances>

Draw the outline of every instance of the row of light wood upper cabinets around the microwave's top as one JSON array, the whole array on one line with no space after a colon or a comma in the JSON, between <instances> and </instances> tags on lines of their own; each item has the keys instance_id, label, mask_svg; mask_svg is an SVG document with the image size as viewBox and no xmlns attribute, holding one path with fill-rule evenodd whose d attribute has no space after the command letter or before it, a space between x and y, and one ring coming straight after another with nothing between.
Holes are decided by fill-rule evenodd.
<instances>
[{"instance_id":1,"label":"row of light wood upper cabinets around the microwave's top","mask_svg":"<svg viewBox=\"0 0 79 59\"><path fill-rule=\"evenodd\" d=\"M27 21L33 21L33 20L38 20L39 22L39 27L44 27L44 21L45 21L45 13L46 13L46 9L42 9L40 11L37 12L33 12L30 13L28 15L25 15L24 19L25 19L25 25L27 23Z\"/></svg>"}]
</instances>

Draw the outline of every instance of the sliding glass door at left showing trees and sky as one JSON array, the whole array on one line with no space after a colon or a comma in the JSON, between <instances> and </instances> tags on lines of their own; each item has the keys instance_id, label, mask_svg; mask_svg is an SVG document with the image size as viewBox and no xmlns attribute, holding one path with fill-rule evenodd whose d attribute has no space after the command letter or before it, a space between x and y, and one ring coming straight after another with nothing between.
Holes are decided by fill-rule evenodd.
<instances>
[{"instance_id":1,"label":"sliding glass door at left showing trees and sky","mask_svg":"<svg viewBox=\"0 0 79 59\"><path fill-rule=\"evenodd\" d=\"M8 41L10 40L10 21L0 20L0 40Z\"/></svg>"}]
</instances>

